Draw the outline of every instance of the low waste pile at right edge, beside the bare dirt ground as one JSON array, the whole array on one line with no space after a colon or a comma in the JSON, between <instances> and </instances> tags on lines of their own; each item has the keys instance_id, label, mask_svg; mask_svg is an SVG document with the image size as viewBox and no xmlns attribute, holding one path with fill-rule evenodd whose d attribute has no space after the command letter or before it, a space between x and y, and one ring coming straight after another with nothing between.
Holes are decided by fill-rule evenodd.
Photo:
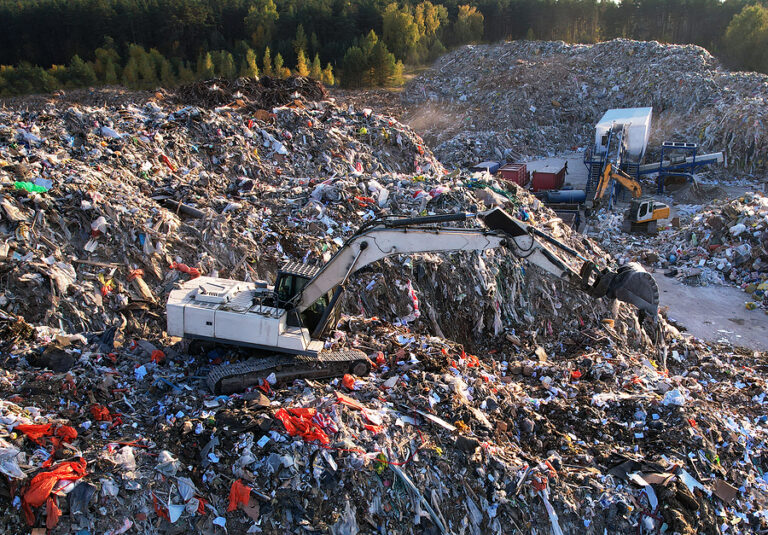
<instances>
[{"instance_id":1,"label":"low waste pile at right edge, beside the bare dirt ground","mask_svg":"<svg viewBox=\"0 0 768 535\"><path fill-rule=\"evenodd\" d=\"M676 210L680 225L653 236L623 233L623 214L602 211L590 234L619 262L640 261L694 286L731 284L747 293L747 308L768 310L768 196Z\"/></svg>"}]
</instances>

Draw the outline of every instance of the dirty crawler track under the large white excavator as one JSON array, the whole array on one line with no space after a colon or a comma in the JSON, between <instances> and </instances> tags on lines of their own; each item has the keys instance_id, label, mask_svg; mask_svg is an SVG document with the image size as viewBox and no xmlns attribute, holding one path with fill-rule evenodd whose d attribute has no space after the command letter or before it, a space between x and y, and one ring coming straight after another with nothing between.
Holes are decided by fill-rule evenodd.
<instances>
[{"instance_id":1,"label":"dirty crawler track under the large white excavator","mask_svg":"<svg viewBox=\"0 0 768 535\"><path fill-rule=\"evenodd\" d=\"M206 383L214 394L232 394L262 384L271 373L275 374L278 383L286 383L294 379L340 377L345 373L364 376L370 371L370 361L362 351L321 351L314 357L270 355L222 364L211 370Z\"/></svg>"}]
</instances>

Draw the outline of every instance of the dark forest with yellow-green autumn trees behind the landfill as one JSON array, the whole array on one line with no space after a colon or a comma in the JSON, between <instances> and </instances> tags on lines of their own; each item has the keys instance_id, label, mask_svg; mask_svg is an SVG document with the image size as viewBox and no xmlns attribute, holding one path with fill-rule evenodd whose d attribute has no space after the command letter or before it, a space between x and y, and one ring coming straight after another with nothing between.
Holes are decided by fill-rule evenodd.
<instances>
[{"instance_id":1,"label":"dark forest with yellow-green autumn trees behind the landfill","mask_svg":"<svg viewBox=\"0 0 768 535\"><path fill-rule=\"evenodd\" d=\"M699 44L768 72L753 0L0 0L0 95L210 76L402 83L404 64L501 39Z\"/></svg>"}]
</instances>

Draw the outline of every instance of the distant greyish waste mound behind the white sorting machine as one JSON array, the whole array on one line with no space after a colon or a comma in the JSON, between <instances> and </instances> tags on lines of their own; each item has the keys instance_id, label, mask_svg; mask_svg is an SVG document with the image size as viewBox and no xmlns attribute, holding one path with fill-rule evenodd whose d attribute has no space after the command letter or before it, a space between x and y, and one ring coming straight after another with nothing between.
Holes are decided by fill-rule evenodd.
<instances>
[{"instance_id":1,"label":"distant greyish waste mound behind the white sorting machine","mask_svg":"<svg viewBox=\"0 0 768 535\"><path fill-rule=\"evenodd\" d=\"M468 45L408 83L404 122L446 165L594 143L607 109L652 106L650 146L698 142L729 165L766 166L768 76L730 72L705 49L616 39L595 45Z\"/></svg>"}]
</instances>

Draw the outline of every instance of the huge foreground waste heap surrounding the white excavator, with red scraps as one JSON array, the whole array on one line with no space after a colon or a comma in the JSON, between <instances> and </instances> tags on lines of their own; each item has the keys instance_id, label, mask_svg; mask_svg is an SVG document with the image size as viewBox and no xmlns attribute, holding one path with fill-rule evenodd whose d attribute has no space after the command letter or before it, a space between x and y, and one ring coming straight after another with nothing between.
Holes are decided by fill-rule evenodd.
<instances>
[{"instance_id":1,"label":"huge foreground waste heap surrounding the white excavator, with red scraps","mask_svg":"<svg viewBox=\"0 0 768 535\"><path fill-rule=\"evenodd\" d=\"M326 346L369 376L212 395L247 352L165 335L178 281L271 281L375 217L498 205L614 264L525 191L291 83L0 110L0 531L768 529L765 356L503 251L355 274Z\"/></svg>"}]
</instances>

